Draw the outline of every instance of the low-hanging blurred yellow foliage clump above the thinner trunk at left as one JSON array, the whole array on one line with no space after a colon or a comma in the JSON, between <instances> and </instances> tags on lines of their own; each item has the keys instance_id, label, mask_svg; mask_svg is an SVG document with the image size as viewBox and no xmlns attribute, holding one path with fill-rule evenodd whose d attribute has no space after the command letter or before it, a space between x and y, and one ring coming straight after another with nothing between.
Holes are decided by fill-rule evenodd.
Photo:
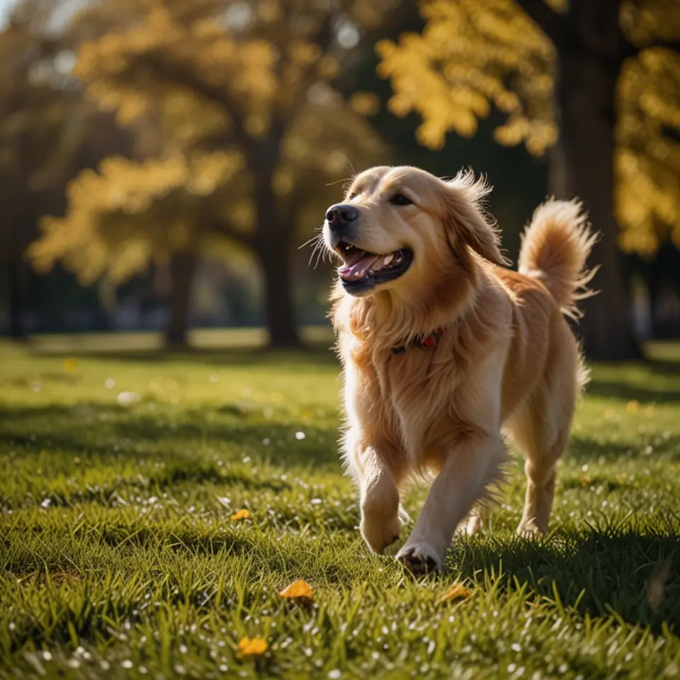
<instances>
[{"instance_id":1,"label":"low-hanging blurred yellow foliage clump above the thinner trunk at left","mask_svg":"<svg viewBox=\"0 0 680 680\"><path fill-rule=\"evenodd\" d=\"M200 202L242 168L236 152L174 154L135 162L108 157L99 172L84 171L67 191L66 217L45 217L42 238L28 249L38 271L57 260L83 283L108 276L120 283L144 271L149 259L196 244L210 225ZM200 246L200 243L199 243Z\"/></svg>"}]
</instances>

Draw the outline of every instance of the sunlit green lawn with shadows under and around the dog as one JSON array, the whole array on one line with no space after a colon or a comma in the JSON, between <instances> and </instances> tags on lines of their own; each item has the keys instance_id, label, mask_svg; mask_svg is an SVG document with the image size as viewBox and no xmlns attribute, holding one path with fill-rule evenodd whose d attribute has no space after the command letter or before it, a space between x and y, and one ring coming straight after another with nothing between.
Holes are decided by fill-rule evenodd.
<instances>
[{"instance_id":1,"label":"sunlit green lawn with shadows under and around the dog","mask_svg":"<svg viewBox=\"0 0 680 680\"><path fill-rule=\"evenodd\" d=\"M358 535L329 353L41 349L0 346L0 676L680 676L673 365L595 368L547 540L514 534L514 454L490 531L415 580Z\"/></svg>"}]
</instances>

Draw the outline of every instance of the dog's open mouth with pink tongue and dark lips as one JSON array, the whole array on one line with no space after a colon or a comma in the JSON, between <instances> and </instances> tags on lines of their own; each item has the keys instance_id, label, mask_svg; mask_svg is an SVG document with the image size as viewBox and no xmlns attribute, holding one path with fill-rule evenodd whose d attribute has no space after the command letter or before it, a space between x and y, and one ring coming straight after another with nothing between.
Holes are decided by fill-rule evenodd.
<instances>
[{"instance_id":1,"label":"dog's open mouth with pink tongue and dark lips","mask_svg":"<svg viewBox=\"0 0 680 680\"><path fill-rule=\"evenodd\" d=\"M336 249L344 261L338 273L348 293L362 293L379 283L395 280L407 271L413 261L413 251L409 248L377 255L341 241Z\"/></svg>"}]
</instances>

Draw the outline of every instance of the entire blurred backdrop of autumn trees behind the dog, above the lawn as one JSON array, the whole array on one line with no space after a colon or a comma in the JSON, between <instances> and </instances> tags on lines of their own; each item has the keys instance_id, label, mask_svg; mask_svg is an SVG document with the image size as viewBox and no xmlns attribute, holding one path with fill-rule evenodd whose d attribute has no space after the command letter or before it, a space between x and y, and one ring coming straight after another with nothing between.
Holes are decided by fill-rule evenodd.
<instances>
[{"instance_id":1,"label":"entire blurred backdrop of autumn trees behind the dog, above the lawn","mask_svg":"<svg viewBox=\"0 0 680 680\"><path fill-rule=\"evenodd\" d=\"M0 332L297 346L332 276L297 246L393 162L487 174L511 256L547 192L581 196L604 232L589 354L633 356L631 317L678 336L674 6L0 0Z\"/></svg>"}]
</instances>

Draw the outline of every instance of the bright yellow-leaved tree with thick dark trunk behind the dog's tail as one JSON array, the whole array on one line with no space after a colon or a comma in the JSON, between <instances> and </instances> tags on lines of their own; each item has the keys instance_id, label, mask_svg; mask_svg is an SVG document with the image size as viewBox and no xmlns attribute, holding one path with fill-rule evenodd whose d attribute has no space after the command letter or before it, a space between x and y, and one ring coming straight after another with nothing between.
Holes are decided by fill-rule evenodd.
<instances>
[{"instance_id":1,"label":"bright yellow-leaved tree with thick dark trunk behind the dog's tail","mask_svg":"<svg viewBox=\"0 0 680 680\"><path fill-rule=\"evenodd\" d=\"M419 113L419 141L441 147L493 106L507 116L499 143L550 149L550 191L582 198L602 234L586 351L637 356L618 245L680 244L677 1L424 0L421 12L421 34L378 45L391 111Z\"/></svg>"}]
</instances>

